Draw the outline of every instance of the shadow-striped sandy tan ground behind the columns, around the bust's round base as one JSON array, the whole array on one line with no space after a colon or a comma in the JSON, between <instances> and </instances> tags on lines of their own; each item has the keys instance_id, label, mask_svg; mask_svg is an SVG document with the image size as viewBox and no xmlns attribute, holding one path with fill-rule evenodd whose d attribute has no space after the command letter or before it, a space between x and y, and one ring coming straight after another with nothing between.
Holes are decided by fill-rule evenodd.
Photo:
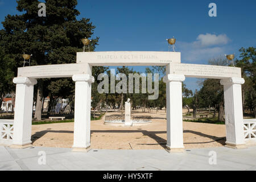
<instances>
[{"instance_id":1,"label":"shadow-striped sandy tan ground behind the columns, around the bust's round base","mask_svg":"<svg viewBox=\"0 0 256 182\"><path fill-rule=\"evenodd\" d=\"M117 113L108 113L117 114ZM166 144L166 113L136 113L151 115L152 123L144 126L103 125L105 117L91 122L93 149L163 149ZM74 123L32 125L35 146L72 147ZM183 122L185 148L218 147L225 143L225 125ZM217 140L217 141L215 141Z\"/></svg>"}]
</instances>

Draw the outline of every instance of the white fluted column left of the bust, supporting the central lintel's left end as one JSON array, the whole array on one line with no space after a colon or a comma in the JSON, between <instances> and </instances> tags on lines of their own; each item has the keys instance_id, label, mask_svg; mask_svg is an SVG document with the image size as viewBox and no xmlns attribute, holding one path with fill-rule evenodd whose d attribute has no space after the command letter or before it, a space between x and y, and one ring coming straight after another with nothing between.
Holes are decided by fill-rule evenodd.
<instances>
[{"instance_id":1,"label":"white fluted column left of the bust, supporting the central lintel's left end","mask_svg":"<svg viewBox=\"0 0 256 182\"><path fill-rule=\"evenodd\" d=\"M75 88L75 123L73 151L89 151L90 149L90 102L94 77L73 75Z\"/></svg>"}]
</instances>

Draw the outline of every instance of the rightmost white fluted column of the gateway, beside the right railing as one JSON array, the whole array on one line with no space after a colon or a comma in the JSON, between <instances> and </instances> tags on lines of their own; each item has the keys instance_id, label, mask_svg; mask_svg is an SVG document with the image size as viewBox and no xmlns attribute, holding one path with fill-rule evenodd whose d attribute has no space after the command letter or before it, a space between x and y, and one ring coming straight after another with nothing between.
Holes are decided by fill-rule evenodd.
<instances>
[{"instance_id":1,"label":"rightmost white fluted column of the gateway, beside the right railing","mask_svg":"<svg viewBox=\"0 0 256 182\"><path fill-rule=\"evenodd\" d=\"M224 85L226 147L245 148L243 132L242 84L243 78L226 78Z\"/></svg>"}]
</instances>

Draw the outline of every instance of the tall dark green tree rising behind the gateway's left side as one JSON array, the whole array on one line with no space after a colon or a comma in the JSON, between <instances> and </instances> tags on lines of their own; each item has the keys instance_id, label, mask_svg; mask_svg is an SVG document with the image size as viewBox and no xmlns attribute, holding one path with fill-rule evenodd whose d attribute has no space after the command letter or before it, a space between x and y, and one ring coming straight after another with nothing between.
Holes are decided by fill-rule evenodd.
<instances>
[{"instance_id":1,"label":"tall dark green tree rising behind the gateway's left side","mask_svg":"<svg viewBox=\"0 0 256 182\"><path fill-rule=\"evenodd\" d=\"M80 14L76 10L77 1L47 0L46 17L38 16L39 1L19 0L17 3L17 10L23 14L7 15L1 30L3 54L9 57L13 75L23 66L23 52L33 55L31 65L76 63L76 52L82 51L81 39L90 38L95 28L90 19L76 19ZM92 39L90 51L94 50L98 39ZM74 87L71 78L40 79L38 85L37 101L40 102L49 93L61 96L64 88L72 90ZM57 86L63 88L57 89Z\"/></svg>"}]
</instances>

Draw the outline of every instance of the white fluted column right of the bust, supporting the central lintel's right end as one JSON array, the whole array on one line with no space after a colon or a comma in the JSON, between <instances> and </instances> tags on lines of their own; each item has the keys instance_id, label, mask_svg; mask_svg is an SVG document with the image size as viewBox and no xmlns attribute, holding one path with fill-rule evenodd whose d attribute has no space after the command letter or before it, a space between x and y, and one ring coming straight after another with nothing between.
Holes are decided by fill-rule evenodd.
<instances>
[{"instance_id":1,"label":"white fluted column right of the bust, supporting the central lintel's right end","mask_svg":"<svg viewBox=\"0 0 256 182\"><path fill-rule=\"evenodd\" d=\"M183 152L182 81L184 75L170 75L166 82L167 151Z\"/></svg>"}]
</instances>

